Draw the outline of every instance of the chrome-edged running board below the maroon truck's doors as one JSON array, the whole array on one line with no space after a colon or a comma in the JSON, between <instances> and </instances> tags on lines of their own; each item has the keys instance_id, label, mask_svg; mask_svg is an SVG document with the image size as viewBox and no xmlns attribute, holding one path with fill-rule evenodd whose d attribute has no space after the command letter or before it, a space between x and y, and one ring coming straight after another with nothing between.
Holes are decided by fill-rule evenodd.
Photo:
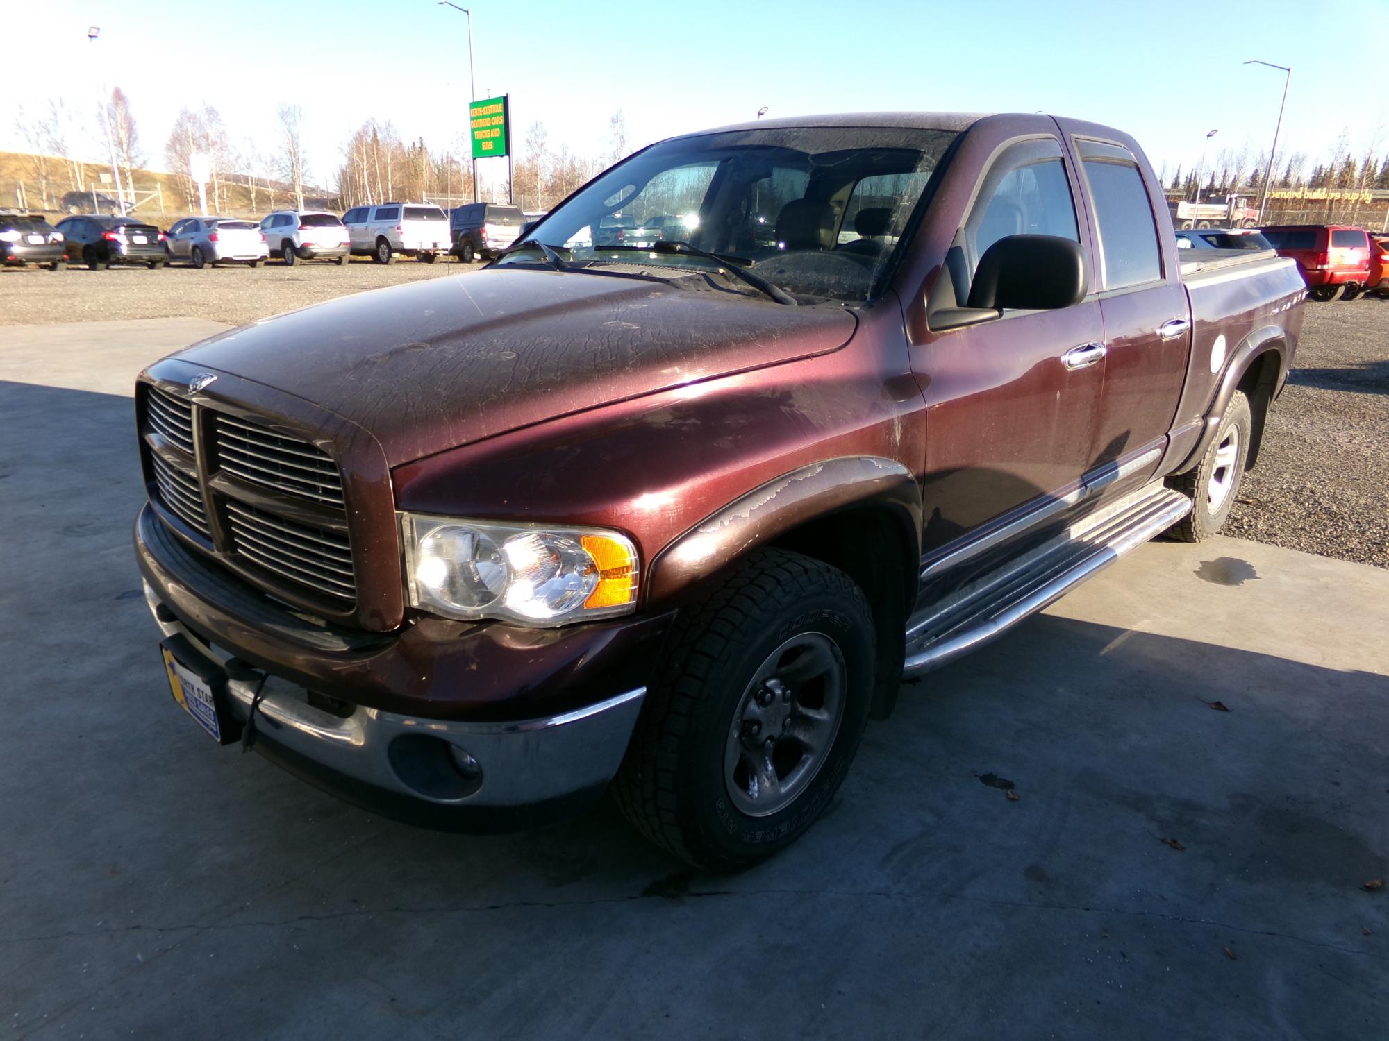
<instances>
[{"instance_id":1,"label":"chrome-edged running board below the maroon truck's doors","mask_svg":"<svg viewBox=\"0 0 1389 1041\"><path fill-rule=\"evenodd\" d=\"M1008 561L907 623L907 676L982 647L1074 586L1181 520L1192 501L1153 482L1081 518L1043 545Z\"/></svg>"}]
</instances>

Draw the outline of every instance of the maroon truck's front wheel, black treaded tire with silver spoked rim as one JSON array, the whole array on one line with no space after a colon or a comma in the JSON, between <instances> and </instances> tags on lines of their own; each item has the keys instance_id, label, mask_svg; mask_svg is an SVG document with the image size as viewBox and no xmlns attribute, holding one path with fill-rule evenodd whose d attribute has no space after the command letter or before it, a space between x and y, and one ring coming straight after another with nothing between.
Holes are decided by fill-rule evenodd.
<instances>
[{"instance_id":1,"label":"maroon truck's front wheel, black treaded tire with silver spoked rim","mask_svg":"<svg viewBox=\"0 0 1389 1041\"><path fill-rule=\"evenodd\" d=\"M710 870L739 870L825 811L868 720L863 590L785 550L750 554L682 609L613 781L622 815Z\"/></svg>"}]
</instances>

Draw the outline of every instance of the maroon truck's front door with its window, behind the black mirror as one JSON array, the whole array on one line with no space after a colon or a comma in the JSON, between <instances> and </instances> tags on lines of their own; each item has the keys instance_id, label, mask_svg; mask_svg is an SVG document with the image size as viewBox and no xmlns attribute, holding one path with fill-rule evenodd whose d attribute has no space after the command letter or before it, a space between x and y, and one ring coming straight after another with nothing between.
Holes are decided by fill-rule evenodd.
<instances>
[{"instance_id":1,"label":"maroon truck's front door with its window, behind the black mirror","mask_svg":"<svg viewBox=\"0 0 1389 1041\"><path fill-rule=\"evenodd\" d=\"M1067 237L1088 254L1076 197L1058 137L1001 143L946 258L951 303L968 298L979 257L1004 236ZM926 400L928 573L978 555L972 544L1003 544L1065 516L1096 455L1104 323L1093 294L936 335L913 350L913 369Z\"/></svg>"}]
</instances>

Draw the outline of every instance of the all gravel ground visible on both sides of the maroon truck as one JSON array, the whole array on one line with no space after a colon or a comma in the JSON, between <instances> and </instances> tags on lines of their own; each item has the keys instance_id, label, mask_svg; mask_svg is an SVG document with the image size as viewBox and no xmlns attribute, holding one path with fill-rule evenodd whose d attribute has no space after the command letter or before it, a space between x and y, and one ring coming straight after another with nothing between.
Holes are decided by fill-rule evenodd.
<instances>
[{"instance_id":1,"label":"all gravel ground visible on both sides of the maroon truck","mask_svg":"<svg viewBox=\"0 0 1389 1041\"><path fill-rule=\"evenodd\" d=\"M468 271L453 258L346 268L178 265L0 271L0 325L207 318L239 325L349 293ZM1389 568L1389 301L1307 303L1297 368L1226 533Z\"/></svg>"}]
</instances>

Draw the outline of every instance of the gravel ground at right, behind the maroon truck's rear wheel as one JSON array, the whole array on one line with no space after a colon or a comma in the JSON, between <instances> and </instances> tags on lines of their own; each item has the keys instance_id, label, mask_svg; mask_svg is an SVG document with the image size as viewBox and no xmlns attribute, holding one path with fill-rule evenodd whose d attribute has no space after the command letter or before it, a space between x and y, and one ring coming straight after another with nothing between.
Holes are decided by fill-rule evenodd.
<instances>
[{"instance_id":1,"label":"gravel ground at right, behind the maroon truck's rear wheel","mask_svg":"<svg viewBox=\"0 0 1389 1041\"><path fill-rule=\"evenodd\" d=\"M1389 568L1389 300L1307 303L1225 533Z\"/></svg>"}]
</instances>

